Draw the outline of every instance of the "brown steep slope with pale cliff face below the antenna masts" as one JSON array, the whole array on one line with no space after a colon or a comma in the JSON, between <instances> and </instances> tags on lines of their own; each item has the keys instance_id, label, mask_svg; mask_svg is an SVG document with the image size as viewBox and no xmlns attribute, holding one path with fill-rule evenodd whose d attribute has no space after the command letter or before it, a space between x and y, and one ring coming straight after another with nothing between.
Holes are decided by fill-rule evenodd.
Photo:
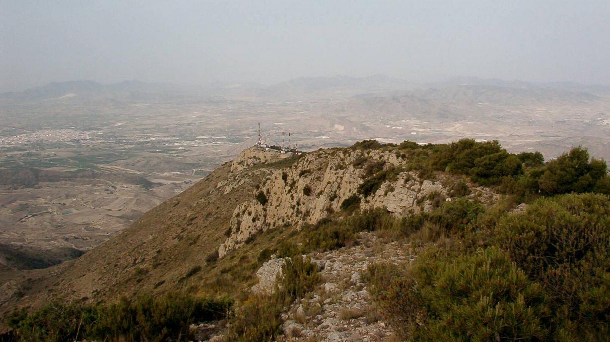
<instances>
[{"instance_id":1,"label":"brown steep slope with pale cliff face below the antenna masts","mask_svg":"<svg viewBox=\"0 0 610 342\"><path fill-rule=\"evenodd\" d=\"M292 157L246 149L81 258L13 277L13 290L0 294L2 311L51 298L99 301L179 289L235 294L256 283L256 255L268 241L252 241L263 232L281 239L288 227L317 223L356 196L361 208L397 214L451 200L458 179L420 178L401 167L404 158L391 149L321 149ZM368 190L358 194L362 184ZM472 187L470 196L493 201L496 195ZM232 272L246 266L253 272Z\"/></svg>"}]
</instances>

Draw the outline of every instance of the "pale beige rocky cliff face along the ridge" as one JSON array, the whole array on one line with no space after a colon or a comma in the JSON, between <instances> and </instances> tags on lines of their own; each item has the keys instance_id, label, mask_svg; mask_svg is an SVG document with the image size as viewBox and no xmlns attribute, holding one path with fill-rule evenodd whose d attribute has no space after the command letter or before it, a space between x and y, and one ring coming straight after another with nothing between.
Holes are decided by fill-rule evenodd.
<instances>
[{"instance_id":1,"label":"pale beige rocky cliff face along the ridge","mask_svg":"<svg viewBox=\"0 0 610 342\"><path fill-rule=\"evenodd\" d=\"M224 191L239 186L245 179L242 174L251 173L253 165L278 160L278 155L255 148L242 152L231 168L231 178L221 184ZM390 151L320 149L296 159L292 166L267 169L252 198L235 207L218 255L223 257L267 229L317 223L341 210L343 201L354 195L361 198L362 209L384 207L397 215L430 210L435 201L451 200L453 177L422 179L414 171L401 171L404 164L406 160ZM375 171L392 172L392 177L379 182L368 196L358 194L361 183ZM488 200L496 196L485 188L472 190L470 196Z\"/></svg>"}]
</instances>

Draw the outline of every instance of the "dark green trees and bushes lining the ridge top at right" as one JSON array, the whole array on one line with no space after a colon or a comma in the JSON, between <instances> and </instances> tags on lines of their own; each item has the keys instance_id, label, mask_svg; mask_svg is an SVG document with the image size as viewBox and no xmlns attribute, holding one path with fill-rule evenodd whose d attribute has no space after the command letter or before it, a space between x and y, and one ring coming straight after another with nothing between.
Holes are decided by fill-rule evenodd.
<instances>
[{"instance_id":1,"label":"dark green trees and bushes lining the ridge top at right","mask_svg":"<svg viewBox=\"0 0 610 342\"><path fill-rule=\"evenodd\" d=\"M573 148L557 159L544 163L540 152L512 154L503 149L498 141L478 143L462 139L450 144L428 144L420 146L411 141L400 145L383 145L370 140L354 144L353 149L375 149L394 151L404 159L404 169L415 170L422 178L434 177L434 172L465 175L473 182L495 187L506 194L517 194L521 198L553 196L563 193L610 194L610 177L603 160L590 159L583 148ZM365 160L359 160L364 165ZM374 165L370 162L369 165ZM374 193L381 183L403 171L386 169L367 173L359 193L364 197Z\"/></svg>"}]
</instances>

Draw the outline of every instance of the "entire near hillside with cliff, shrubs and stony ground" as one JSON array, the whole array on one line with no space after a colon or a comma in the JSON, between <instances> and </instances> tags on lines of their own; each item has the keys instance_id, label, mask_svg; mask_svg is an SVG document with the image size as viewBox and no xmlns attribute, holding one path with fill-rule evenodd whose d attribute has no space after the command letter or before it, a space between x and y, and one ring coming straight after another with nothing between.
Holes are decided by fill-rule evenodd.
<instances>
[{"instance_id":1,"label":"entire near hillside with cliff, shrubs and stony ground","mask_svg":"<svg viewBox=\"0 0 610 342\"><path fill-rule=\"evenodd\" d=\"M21 340L60 329L76 340L74 315L85 313L88 340L106 329L117 341L138 340L134 331L140 340L472 340L473 329L482 340L600 340L607 194L606 163L582 148L546 163L497 141L251 148L83 257L13 272L2 309L71 303L12 315ZM108 304L120 296L130 299ZM188 312L189 298L212 311ZM115 310L135 321L117 327ZM165 319L175 310L184 321ZM149 330L163 327L173 333Z\"/></svg>"}]
</instances>

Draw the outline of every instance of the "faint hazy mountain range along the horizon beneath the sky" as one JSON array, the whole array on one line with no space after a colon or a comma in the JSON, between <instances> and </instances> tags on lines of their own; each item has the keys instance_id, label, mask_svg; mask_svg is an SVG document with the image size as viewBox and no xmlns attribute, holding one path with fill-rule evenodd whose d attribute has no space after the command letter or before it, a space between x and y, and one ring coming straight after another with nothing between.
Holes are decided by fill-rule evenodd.
<instances>
[{"instance_id":1,"label":"faint hazy mountain range along the horizon beneath the sky","mask_svg":"<svg viewBox=\"0 0 610 342\"><path fill-rule=\"evenodd\" d=\"M175 101L224 98L287 99L306 96L332 98L366 94L410 94L434 101L595 101L610 97L610 87L573 82L534 83L520 80L453 77L445 82L417 84L386 76L299 77L264 86L259 84L211 84L201 87L146 83L126 80L100 84L92 80L52 82L24 91L1 93L12 101L79 101L119 99L132 101Z\"/></svg>"}]
</instances>

